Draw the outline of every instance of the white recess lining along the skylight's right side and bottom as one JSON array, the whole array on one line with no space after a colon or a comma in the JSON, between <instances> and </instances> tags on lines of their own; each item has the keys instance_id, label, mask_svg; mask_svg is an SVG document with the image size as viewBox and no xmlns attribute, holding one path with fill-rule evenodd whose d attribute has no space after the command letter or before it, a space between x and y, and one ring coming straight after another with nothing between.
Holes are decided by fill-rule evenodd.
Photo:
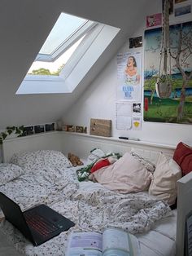
<instances>
[{"instance_id":1,"label":"white recess lining along the skylight's right side and bottom","mask_svg":"<svg viewBox=\"0 0 192 256\"><path fill-rule=\"evenodd\" d=\"M15 94L72 93L119 32L120 28L95 24L82 39L59 76L27 74Z\"/></svg>"}]
</instances>

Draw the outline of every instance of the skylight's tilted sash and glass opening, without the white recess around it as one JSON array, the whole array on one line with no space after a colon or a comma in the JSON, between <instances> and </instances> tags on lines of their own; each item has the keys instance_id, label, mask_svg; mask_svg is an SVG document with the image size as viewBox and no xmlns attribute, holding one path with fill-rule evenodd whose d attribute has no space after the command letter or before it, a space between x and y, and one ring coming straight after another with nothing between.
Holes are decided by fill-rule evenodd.
<instances>
[{"instance_id":1,"label":"skylight's tilted sash and glass opening, without the white recess around it","mask_svg":"<svg viewBox=\"0 0 192 256\"><path fill-rule=\"evenodd\" d=\"M61 13L28 74L59 75L94 22Z\"/></svg>"}]
</instances>

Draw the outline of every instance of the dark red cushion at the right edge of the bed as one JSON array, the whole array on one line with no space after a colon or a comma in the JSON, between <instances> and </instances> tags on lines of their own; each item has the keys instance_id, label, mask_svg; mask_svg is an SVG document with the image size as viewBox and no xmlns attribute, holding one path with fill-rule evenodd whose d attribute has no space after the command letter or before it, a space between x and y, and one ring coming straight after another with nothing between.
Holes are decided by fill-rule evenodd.
<instances>
[{"instance_id":1,"label":"dark red cushion at the right edge of the bed","mask_svg":"<svg viewBox=\"0 0 192 256\"><path fill-rule=\"evenodd\" d=\"M183 175L189 174L192 171L192 148L185 143L178 143L173 160L181 167Z\"/></svg>"}]
</instances>

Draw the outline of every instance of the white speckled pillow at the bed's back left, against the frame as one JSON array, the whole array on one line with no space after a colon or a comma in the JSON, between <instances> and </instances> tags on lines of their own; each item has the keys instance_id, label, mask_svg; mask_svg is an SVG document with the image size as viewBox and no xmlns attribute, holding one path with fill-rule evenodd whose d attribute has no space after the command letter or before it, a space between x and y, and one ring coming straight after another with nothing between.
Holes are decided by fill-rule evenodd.
<instances>
[{"instance_id":1,"label":"white speckled pillow at the bed's back left, against the frame","mask_svg":"<svg viewBox=\"0 0 192 256\"><path fill-rule=\"evenodd\" d=\"M26 172L35 172L48 166L53 169L63 170L72 167L68 158L62 152L55 150L38 150L15 154L11 163L21 166Z\"/></svg>"}]
</instances>

